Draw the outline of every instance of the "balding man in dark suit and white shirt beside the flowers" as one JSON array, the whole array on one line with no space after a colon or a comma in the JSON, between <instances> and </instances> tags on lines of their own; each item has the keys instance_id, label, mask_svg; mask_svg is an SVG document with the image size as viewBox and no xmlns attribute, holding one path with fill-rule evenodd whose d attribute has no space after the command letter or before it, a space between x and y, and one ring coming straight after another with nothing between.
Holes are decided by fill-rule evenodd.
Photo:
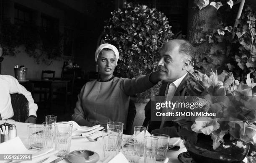
<instances>
[{"instance_id":1,"label":"balding man in dark suit and white shirt beside the flowers","mask_svg":"<svg viewBox=\"0 0 256 163\"><path fill-rule=\"evenodd\" d=\"M166 101L172 101L173 98L186 95L186 80L189 77L187 71L193 69L195 58L194 47L184 40L171 40L164 44L160 51L161 59L158 62L160 79L163 81L159 96L165 96ZM176 101L176 100L175 100ZM151 121L151 101L145 107L144 126L148 122L148 131L155 129L168 130L172 132L172 137L178 137L176 125L174 122L166 122L162 117L161 122Z\"/></svg>"}]
</instances>

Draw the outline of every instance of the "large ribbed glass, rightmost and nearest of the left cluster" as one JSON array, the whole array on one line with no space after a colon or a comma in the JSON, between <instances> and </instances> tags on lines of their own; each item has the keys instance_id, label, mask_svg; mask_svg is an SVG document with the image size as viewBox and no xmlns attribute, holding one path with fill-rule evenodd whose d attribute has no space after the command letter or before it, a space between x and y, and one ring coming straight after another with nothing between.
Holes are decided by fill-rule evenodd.
<instances>
[{"instance_id":1,"label":"large ribbed glass, rightmost and nearest of the left cluster","mask_svg":"<svg viewBox=\"0 0 256 163\"><path fill-rule=\"evenodd\" d=\"M55 124L55 150L59 151L56 156L63 157L69 153L72 127L72 123L68 122L57 122Z\"/></svg>"}]
</instances>

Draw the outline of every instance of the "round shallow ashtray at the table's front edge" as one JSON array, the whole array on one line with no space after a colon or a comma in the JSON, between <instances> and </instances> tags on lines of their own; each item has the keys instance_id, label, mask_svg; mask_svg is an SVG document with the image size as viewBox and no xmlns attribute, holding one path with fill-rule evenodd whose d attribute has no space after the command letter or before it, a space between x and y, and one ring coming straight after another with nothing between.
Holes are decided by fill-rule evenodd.
<instances>
[{"instance_id":1,"label":"round shallow ashtray at the table's front edge","mask_svg":"<svg viewBox=\"0 0 256 163\"><path fill-rule=\"evenodd\" d=\"M96 163L99 159L99 154L91 150L74 150L67 156L71 163Z\"/></svg>"}]
</instances>

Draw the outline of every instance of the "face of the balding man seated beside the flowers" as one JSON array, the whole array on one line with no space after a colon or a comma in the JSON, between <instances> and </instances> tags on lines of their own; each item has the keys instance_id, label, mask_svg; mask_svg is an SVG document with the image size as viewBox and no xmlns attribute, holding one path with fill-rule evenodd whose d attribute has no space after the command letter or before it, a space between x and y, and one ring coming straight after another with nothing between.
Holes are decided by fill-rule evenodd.
<instances>
[{"instance_id":1,"label":"face of the balding man seated beside the flowers","mask_svg":"<svg viewBox=\"0 0 256 163\"><path fill-rule=\"evenodd\" d=\"M161 59L158 62L160 79L164 82L174 82L182 77L186 71L184 68L184 57L179 53L179 43L169 41L164 44L161 51Z\"/></svg>"}]
</instances>

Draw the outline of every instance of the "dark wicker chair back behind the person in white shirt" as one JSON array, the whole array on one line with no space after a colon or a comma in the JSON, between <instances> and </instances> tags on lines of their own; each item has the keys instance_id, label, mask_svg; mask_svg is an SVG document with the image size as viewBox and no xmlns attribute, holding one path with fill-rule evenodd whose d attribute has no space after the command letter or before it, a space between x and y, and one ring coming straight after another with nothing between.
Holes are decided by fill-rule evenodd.
<instances>
[{"instance_id":1,"label":"dark wicker chair back behind the person in white shirt","mask_svg":"<svg viewBox=\"0 0 256 163\"><path fill-rule=\"evenodd\" d=\"M13 120L18 122L25 122L28 118L28 100L23 94L10 94L11 103L13 106L14 115Z\"/></svg>"}]
</instances>

